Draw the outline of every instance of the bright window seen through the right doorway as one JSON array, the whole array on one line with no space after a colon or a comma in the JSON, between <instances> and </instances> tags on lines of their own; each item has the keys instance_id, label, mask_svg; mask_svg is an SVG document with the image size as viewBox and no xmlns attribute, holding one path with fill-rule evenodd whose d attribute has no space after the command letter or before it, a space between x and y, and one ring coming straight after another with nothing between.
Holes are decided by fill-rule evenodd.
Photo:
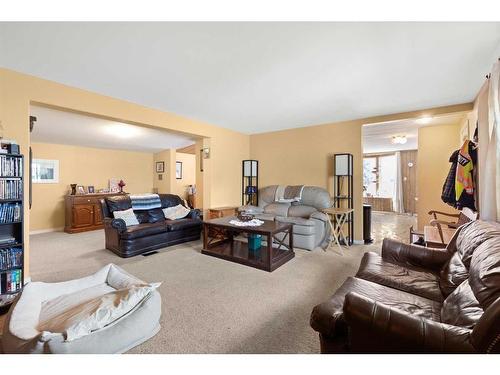
<instances>
[{"instance_id":1,"label":"bright window seen through the right doorway","mask_svg":"<svg viewBox=\"0 0 500 375\"><path fill-rule=\"evenodd\" d=\"M369 197L392 198L396 186L396 155L363 158L363 190Z\"/></svg>"}]
</instances>

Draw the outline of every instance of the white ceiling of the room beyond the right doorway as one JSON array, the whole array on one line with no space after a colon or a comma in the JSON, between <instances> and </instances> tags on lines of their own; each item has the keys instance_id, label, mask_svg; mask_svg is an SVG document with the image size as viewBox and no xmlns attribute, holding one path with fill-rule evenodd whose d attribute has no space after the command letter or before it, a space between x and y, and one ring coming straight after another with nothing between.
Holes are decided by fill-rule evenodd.
<instances>
[{"instance_id":1,"label":"white ceiling of the room beyond the right doorway","mask_svg":"<svg viewBox=\"0 0 500 375\"><path fill-rule=\"evenodd\" d=\"M392 152L416 150L418 148L418 129L424 126L457 124L465 117L464 113L434 117L427 124L419 123L418 119L403 119L379 122L363 126L363 152ZM392 144L392 137L404 135L408 140L404 145ZM457 135L458 141L458 135Z\"/></svg>"}]
</instances>

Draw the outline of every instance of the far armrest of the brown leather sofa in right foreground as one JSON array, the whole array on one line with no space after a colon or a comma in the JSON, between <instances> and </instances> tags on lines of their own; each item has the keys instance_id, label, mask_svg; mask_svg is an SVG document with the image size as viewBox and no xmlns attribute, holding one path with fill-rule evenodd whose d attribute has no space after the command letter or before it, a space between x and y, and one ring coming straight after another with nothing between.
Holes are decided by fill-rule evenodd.
<instances>
[{"instance_id":1,"label":"far armrest of the brown leather sofa in right foreground","mask_svg":"<svg viewBox=\"0 0 500 375\"><path fill-rule=\"evenodd\" d=\"M408 245L389 238L384 238L384 242L382 243L382 258L393 263L410 264L437 270L450 257L451 253L446 250Z\"/></svg>"}]
</instances>

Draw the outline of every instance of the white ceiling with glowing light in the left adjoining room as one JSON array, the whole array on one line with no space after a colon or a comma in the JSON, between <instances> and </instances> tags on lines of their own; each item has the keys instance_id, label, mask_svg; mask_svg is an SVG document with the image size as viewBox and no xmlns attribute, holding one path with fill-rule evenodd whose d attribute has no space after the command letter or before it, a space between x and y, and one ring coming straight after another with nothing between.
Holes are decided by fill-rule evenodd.
<instances>
[{"instance_id":1,"label":"white ceiling with glowing light in the left adjoining room","mask_svg":"<svg viewBox=\"0 0 500 375\"><path fill-rule=\"evenodd\" d=\"M159 152L185 147L194 139L171 132L116 121L31 106L37 121L32 142L55 143L117 150Z\"/></svg>"}]
</instances>

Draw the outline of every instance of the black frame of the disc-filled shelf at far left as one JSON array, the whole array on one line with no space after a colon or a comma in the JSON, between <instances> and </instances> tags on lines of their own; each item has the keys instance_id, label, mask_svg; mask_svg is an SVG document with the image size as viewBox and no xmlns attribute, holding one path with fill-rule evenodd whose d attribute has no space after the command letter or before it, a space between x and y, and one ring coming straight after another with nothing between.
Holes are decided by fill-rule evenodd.
<instances>
[{"instance_id":1,"label":"black frame of the disc-filled shelf at far left","mask_svg":"<svg viewBox=\"0 0 500 375\"><path fill-rule=\"evenodd\" d=\"M6 266L2 268L0 263L0 314L4 314L8 311L10 305L12 304L15 295L17 295L23 288L24 285L24 156L20 154L0 154L0 160L4 162L8 160L14 160L17 163L17 170L11 173L5 173L2 169L0 173L0 181L20 181L20 189L18 191L18 197L3 199L2 191L0 191L0 208L4 208L4 205L16 205L20 206L20 217L18 220L0 222L0 237L13 237L15 242L12 243L2 243L0 244L0 254L6 254L8 249L20 249L20 263L12 266ZM15 174L15 175L12 175ZM0 211L1 212L1 211ZM13 271L20 271L19 275L19 288L15 290L7 290L7 275L12 274Z\"/></svg>"}]
</instances>

